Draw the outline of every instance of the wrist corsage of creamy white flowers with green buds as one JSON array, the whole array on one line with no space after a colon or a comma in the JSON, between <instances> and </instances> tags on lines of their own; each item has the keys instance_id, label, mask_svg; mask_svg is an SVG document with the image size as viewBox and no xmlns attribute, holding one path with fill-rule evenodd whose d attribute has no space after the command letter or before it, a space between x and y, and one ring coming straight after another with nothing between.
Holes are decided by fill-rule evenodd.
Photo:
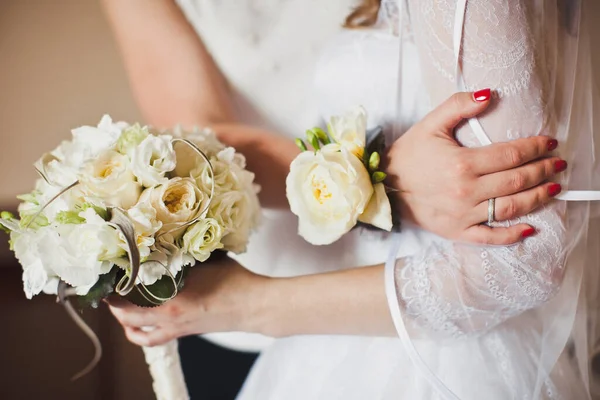
<instances>
[{"instance_id":1,"label":"wrist corsage of creamy white flowers with green buds","mask_svg":"<svg viewBox=\"0 0 600 400\"><path fill-rule=\"evenodd\" d=\"M379 171L383 137L367 145L367 114L358 107L334 116L327 125L309 129L296 144L302 153L290 166L287 198L299 218L298 233L315 245L335 242L362 222L391 231L392 210Z\"/></svg>"}]
</instances>

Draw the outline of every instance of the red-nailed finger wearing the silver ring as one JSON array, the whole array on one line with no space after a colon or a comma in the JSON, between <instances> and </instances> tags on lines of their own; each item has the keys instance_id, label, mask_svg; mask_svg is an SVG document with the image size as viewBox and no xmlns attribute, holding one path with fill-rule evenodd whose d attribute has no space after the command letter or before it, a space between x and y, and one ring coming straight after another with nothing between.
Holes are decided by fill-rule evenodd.
<instances>
[{"instance_id":1,"label":"red-nailed finger wearing the silver ring","mask_svg":"<svg viewBox=\"0 0 600 400\"><path fill-rule=\"evenodd\" d=\"M523 217L551 202L561 190L560 184L550 182L524 192L497 198L494 207L494 219L496 221L508 221ZM484 201L474 208L473 215L476 215L476 217L471 222L473 224L487 222L487 213L488 202Z\"/></svg>"}]
</instances>

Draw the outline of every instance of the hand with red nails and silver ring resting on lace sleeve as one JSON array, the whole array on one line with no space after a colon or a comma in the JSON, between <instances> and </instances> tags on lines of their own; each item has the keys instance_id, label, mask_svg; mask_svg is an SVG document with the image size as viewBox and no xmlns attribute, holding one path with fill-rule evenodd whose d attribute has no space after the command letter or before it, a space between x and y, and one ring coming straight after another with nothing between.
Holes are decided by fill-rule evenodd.
<instances>
[{"instance_id":1,"label":"hand with red nails and silver ring resting on lace sleeve","mask_svg":"<svg viewBox=\"0 0 600 400\"><path fill-rule=\"evenodd\" d=\"M506 245L534 233L525 224L493 229L482 225L488 199L496 198L497 221L524 216L560 193L560 185L547 180L567 164L551 156L558 143L545 136L461 147L454 128L489 103L489 90L457 93L390 147L387 184L399 190L402 219L448 239L473 243Z\"/></svg>"}]
</instances>

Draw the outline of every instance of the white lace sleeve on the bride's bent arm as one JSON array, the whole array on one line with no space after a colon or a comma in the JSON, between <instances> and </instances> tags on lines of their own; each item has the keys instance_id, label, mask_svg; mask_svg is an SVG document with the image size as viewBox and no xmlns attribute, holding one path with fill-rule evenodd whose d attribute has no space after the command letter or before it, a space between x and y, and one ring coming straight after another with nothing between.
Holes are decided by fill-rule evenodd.
<instances>
[{"instance_id":1,"label":"white lace sleeve on the bride's bent arm","mask_svg":"<svg viewBox=\"0 0 600 400\"><path fill-rule=\"evenodd\" d=\"M407 3L411 40L419 48L431 104L439 104L456 91L452 43L457 1ZM547 3L553 4L556 17L556 2ZM491 88L495 93L494 106L479 118L493 142L541 132L559 137L555 127L564 122L552 89L560 76L543 68L545 60L556 55L548 51L546 40L557 37L538 35L532 21L542 17L534 15L529 4L467 3L461 67L469 89ZM457 137L466 146L479 145L467 124ZM566 255L575 241L565 228L566 212L565 203L554 202L510 221L528 223L537 231L515 246L437 242L419 255L398 260L396 293L408 332L476 334L550 300L561 287Z\"/></svg>"}]
</instances>

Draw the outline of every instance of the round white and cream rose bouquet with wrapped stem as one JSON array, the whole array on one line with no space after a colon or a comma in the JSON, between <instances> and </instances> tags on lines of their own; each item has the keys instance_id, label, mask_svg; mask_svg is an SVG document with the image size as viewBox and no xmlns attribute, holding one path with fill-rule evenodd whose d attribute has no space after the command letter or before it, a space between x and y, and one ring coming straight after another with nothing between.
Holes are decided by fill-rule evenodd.
<instances>
[{"instance_id":1,"label":"round white and cream rose bouquet with wrapped stem","mask_svg":"<svg viewBox=\"0 0 600 400\"><path fill-rule=\"evenodd\" d=\"M72 131L35 164L35 189L19 218L0 226L23 267L27 298L58 294L96 345L75 307L112 293L156 306L182 287L186 267L220 252L243 252L258 223L254 175L210 130L152 132L114 123ZM148 329L151 329L149 327ZM187 398L177 342L144 348L159 399Z\"/></svg>"}]
</instances>

